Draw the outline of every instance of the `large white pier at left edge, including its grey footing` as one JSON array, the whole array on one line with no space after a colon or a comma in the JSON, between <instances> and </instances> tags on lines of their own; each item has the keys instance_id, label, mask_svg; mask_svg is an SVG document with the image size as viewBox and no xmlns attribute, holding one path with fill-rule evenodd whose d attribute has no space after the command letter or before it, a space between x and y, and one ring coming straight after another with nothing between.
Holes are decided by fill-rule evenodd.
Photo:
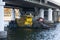
<instances>
[{"instance_id":1,"label":"large white pier at left edge, including its grey footing","mask_svg":"<svg viewBox=\"0 0 60 40\"><path fill-rule=\"evenodd\" d=\"M5 2L0 0L0 39L7 36L7 32L4 30L4 5Z\"/></svg>"}]
</instances>

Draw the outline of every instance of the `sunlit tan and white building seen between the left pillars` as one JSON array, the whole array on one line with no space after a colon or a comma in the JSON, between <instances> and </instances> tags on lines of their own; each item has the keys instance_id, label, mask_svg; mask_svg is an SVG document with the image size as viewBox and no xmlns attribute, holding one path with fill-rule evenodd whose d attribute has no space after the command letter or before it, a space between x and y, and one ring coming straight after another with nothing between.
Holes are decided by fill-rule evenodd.
<instances>
[{"instance_id":1,"label":"sunlit tan and white building seen between the left pillars","mask_svg":"<svg viewBox=\"0 0 60 40\"><path fill-rule=\"evenodd\" d=\"M19 17L19 9L15 9L15 18ZM7 27L11 21L11 8L4 8L4 25Z\"/></svg>"}]
</instances>

